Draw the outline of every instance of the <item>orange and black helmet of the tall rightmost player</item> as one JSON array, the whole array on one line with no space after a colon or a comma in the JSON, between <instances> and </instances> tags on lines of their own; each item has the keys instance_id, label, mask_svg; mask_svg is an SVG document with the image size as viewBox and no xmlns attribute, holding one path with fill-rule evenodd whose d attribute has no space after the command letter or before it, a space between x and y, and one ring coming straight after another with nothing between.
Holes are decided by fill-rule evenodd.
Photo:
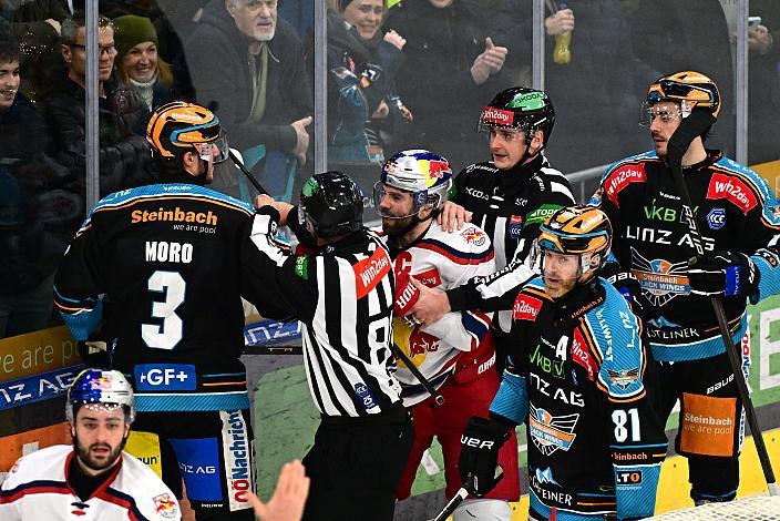
<instances>
[{"instance_id":1,"label":"orange and black helmet of the tall rightmost player","mask_svg":"<svg viewBox=\"0 0 780 521\"><path fill-rule=\"evenodd\" d=\"M654 81L647 89L646 105L659 101L674 101L680 104L682 118L694 109L706 109L716 119L720 113L718 85L707 75L695 71L668 74Z\"/></svg>"}]
</instances>

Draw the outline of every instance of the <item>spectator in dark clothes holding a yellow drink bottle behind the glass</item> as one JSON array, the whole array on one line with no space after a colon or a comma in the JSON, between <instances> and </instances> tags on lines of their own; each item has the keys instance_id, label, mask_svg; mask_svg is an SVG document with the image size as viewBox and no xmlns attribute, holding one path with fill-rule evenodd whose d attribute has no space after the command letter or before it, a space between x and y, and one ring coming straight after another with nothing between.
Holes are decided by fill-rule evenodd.
<instances>
[{"instance_id":1,"label":"spectator in dark clothes holding a yellow drink bottle behind the glass","mask_svg":"<svg viewBox=\"0 0 780 521\"><path fill-rule=\"evenodd\" d=\"M531 64L531 0L505 0L491 19L513 67ZM659 74L632 52L620 0L545 2L545 91L555 103L555 141L545 153L564 173L618 160L640 147L634 95ZM568 61L556 40L571 34ZM561 63L558 63L561 62ZM622 85L616 88L616 85ZM624 88L625 86L625 88ZM598 108L594 112L594 108Z\"/></svg>"}]
</instances>

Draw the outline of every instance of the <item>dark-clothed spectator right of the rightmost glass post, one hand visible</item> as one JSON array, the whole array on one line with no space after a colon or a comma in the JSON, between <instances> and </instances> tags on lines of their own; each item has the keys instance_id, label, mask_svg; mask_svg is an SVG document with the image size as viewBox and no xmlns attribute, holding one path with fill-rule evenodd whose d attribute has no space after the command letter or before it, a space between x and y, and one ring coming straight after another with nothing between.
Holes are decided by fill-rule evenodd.
<instances>
[{"instance_id":1,"label":"dark-clothed spectator right of the rightmost glass post, one hand visible","mask_svg":"<svg viewBox=\"0 0 780 521\"><path fill-rule=\"evenodd\" d=\"M757 164L780 159L780 3L752 0L750 16L761 17L748 29L748 161Z\"/></svg>"}]
</instances>

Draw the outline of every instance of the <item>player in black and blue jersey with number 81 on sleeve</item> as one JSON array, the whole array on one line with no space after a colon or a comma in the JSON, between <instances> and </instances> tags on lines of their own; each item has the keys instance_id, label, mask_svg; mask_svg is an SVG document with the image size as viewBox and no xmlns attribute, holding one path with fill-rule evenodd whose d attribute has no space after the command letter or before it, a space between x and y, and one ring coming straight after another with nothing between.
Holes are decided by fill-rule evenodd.
<instances>
[{"instance_id":1,"label":"player in black and blue jersey with number 81 on sleeve","mask_svg":"<svg viewBox=\"0 0 780 521\"><path fill-rule=\"evenodd\" d=\"M606 215L555 212L535 243L542 276L512 309L511 353L490 418L471 418L460 473L493 487L497 448L526 425L530 519L651 517L666 437L646 386L651 359L626 299L598 277L609 252Z\"/></svg>"}]
</instances>

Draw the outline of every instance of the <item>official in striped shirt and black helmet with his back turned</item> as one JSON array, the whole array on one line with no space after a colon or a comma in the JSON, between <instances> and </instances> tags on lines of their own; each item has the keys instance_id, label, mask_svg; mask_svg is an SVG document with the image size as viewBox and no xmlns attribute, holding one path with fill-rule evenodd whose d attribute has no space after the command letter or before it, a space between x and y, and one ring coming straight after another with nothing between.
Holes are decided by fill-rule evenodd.
<instances>
[{"instance_id":1,"label":"official in striped shirt and black helmet with his back turned","mask_svg":"<svg viewBox=\"0 0 780 521\"><path fill-rule=\"evenodd\" d=\"M340 172L309 178L298 206L268 196L256 205L244 247L249 258L261 253L255 276L302 323L304 365L321 413L304 459L311 479L304 520L392 520L414 435L390 350L390 255L363 228L362 193ZM308 254L275 243L287 223Z\"/></svg>"}]
</instances>

